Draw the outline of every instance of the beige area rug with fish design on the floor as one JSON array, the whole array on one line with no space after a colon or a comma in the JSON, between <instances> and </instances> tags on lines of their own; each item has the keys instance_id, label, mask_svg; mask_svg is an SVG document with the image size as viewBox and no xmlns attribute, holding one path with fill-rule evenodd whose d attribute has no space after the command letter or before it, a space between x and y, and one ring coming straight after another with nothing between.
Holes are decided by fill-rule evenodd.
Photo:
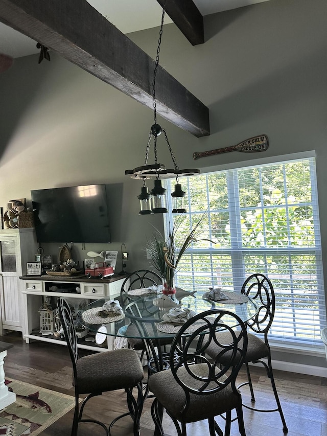
<instances>
[{"instance_id":1,"label":"beige area rug with fish design on the floor","mask_svg":"<svg viewBox=\"0 0 327 436\"><path fill-rule=\"evenodd\" d=\"M1 436L36 436L75 406L75 398L33 384L6 379L16 402L0 412Z\"/></svg>"}]
</instances>

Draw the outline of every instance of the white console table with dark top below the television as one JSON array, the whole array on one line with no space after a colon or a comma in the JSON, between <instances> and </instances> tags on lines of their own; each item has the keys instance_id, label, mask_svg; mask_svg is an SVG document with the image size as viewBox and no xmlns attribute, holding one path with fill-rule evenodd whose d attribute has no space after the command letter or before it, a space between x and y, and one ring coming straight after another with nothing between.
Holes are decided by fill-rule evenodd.
<instances>
[{"instance_id":1,"label":"white console table with dark top below the television","mask_svg":"<svg viewBox=\"0 0 327 436\"><path fill-rule=\"evenodd\" d=\"M24 311L24 328L23 337L27 343L30 340L41 340L44 342L59 343L66 345L65 340L56 337L55 335L44 335L40 333L40 317L39 309L44 302L45 296L53 297L52 300L60 296L66 297L68 300L80 299L87 303L91 300L99 300L101 297L115 299L120 295L122 284L127 277L127 274L113 275L110 278L88 279L86 276L73 277L52 277L52 276L21 276L23 286L22 301ZM54 287L58 288L55 292ZM75 291L80 289L80 293ZM52 289L52 290L50 290ZM114 337L107 340L106 347L90 345L92 342L86 342L84 338L78 341L78 347L87 350L107 351L113 349Z\"/></svg>"}]
</instances>

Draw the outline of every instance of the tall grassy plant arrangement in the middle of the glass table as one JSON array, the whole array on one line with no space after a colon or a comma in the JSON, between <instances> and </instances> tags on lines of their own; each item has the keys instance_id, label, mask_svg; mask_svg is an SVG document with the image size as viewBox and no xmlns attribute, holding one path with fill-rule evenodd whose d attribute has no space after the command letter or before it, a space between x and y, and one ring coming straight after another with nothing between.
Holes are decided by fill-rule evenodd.
<instances>
[{"instance_id":1,"label":"tall grassy plant arrangement in the middle of the glass table","mask_svg":"<svg viewBox=\"0 0 327 436\"><path fill-rule=\"evenodd\" d=\"M147 241L147 249L151 262L162 277L162 292L164 294L173 295L176 292L174 275L185 251L199 241L215 243L210 239L200 238L203 233L200 224L205 217L206 214L203 214L199 221L191 228L190 232L183 235L181 234L181 225L184 221L184 216L180 215L174 221L173 226L170 227L167 239L156 229L152 239Z\"/></svg>"}]
</instances>

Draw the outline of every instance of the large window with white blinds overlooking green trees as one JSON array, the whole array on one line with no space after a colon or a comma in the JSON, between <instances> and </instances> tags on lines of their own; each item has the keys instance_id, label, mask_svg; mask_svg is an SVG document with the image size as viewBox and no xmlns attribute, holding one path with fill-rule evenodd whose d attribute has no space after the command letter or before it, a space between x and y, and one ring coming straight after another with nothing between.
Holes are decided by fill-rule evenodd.
<instances>
[{"instance_id":1,"label":"large window with white blinds overlooking green trees","mask_svg":"<svg viewBox=\"0 0 327 436\"><path fill-rule=\"evenodd\" d=\"M168 183L169 192L174 183ZM276 293L270 338L321 345L326 314L314 158L180 183L189 193L184 231L205 213L201 237L215 244L201 241L185 253L175 285L198 293L213 285L239 291L252 273L266 274ZM169 216L166 221L167 228Z\"/></svg>"}]
</instances>

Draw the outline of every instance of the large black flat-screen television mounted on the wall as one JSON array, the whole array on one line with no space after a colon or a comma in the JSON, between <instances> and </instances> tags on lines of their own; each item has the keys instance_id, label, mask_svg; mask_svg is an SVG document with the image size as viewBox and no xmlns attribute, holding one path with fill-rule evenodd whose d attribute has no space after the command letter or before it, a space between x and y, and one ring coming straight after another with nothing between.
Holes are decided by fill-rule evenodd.
<instances>
[{"instance_id":1,"label":"large black flat-screen television mounted on the wall","mask_svg":"<svg viewBox=\"0 0 327 436\"><path fill-rule=\"evenodd\" d=\"M31 191L38 242L111 242L105 185Z\"/></svg>"}]
</instances>

